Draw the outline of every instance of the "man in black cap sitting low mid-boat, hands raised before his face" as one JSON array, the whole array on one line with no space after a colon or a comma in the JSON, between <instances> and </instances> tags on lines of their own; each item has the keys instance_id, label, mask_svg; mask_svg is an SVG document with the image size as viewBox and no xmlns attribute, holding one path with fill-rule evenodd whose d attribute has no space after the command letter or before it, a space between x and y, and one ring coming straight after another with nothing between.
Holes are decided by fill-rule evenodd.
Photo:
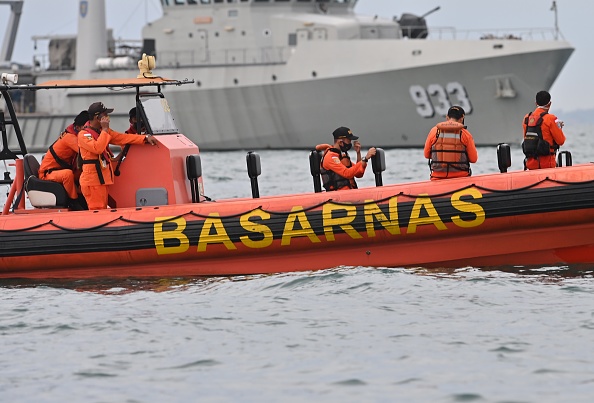
<instances>
[{"instance_id":1,"label":"man in black cap sitting low mid-boat, hands raised before his face","mask_svg":"<svg viewBox=\"0 0 594 403\"><path fill-rule=\"evenodd\" d=\"M324 151L322 156L322 183L327 191L356 189L355 178L362 178L367 162L375 155L375 147L371 147L365 157L361 158L359 137L353 135L348 127L339 127L332 133L334 144L319 144L316 150ZM352 163L348 151L351 147L357 153L357 162Z\"/></svg>"}]
</instances>

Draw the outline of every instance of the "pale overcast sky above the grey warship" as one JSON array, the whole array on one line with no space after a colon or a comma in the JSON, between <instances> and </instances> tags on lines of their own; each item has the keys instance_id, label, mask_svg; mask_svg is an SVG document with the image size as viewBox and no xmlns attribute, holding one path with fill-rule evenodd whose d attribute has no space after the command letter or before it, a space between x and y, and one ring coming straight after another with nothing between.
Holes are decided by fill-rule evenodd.
<instances>
[{"instance_id":1,"label":"pale overcast sky above the grey warship","mask_svg":"<svg viewBox=\"0 0 594 403\"><path fill-rule=\"evenodd\" d=\"M92 0L91 0L92 1ZM12 59L30 63L33 55L33 35L72 34L78 21L78 0L25 0ZM557 79L551 94L556 111L594 109L594 80L591 79L594 44L590 40L594 2L583 0L557 0L558 25L563 37L576 50ZM553 28L555 13L551 0L359 0L356 11L381 17L402 13L422 15L441 6L427 19L430 26L460 29L495 28ZM106 0L107 24L116 37L140 38L146 21L161 15L159 0ZM10 8L0 6L0 32ZM42 44L46 53L47 43ZM455 49L452 49L455 51ZM538 74L535 71L534 74Z\"/></svg>"}]
</instances>

